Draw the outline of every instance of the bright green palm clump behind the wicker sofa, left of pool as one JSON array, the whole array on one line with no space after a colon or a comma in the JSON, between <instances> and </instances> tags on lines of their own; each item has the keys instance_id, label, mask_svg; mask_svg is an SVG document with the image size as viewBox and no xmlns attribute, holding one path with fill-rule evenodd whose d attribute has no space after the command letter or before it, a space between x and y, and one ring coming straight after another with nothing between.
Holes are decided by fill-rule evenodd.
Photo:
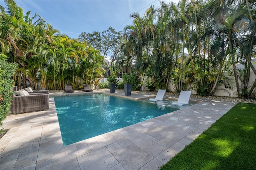
<instances>
[{"instance_id":1,"label":"bright green palm clump behind the wicker sofa, left of pool","mask_svg":"<svg viewBox=\"0 0 256 170\"><path fill-rule=\"evenodd\" d=\"M18 63L18 87L64 89L96 84L104 74L104 57L90 44L61 35L38 14L30 17L12 0L0 6L0 52ZM39 84L39 85L37 85Z\"/></svg>"}]
</instances>

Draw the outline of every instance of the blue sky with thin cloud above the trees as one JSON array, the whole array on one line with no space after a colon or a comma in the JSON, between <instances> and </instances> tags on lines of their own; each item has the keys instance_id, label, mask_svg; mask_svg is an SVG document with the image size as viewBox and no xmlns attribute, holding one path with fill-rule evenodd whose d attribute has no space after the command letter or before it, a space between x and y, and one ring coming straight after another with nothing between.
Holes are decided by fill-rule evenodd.
<instances>
[{"instance_id":1,"label":"blue sky with thin cloud above the trees","mask_svg":"<svg viewBox=\"0 0 256 170\"><path fill-rule=\"evenodd\" d=\"M31 11L70 38L78 38L82 32L103 32L110 26L116 31L132 24L130 15L144 14L151 5L159 7L158 0L14 0L23 14ZM178 0L165 0L178 3ZM4 0L0 4L5 7Z\"/></svg>"}]
</instances>

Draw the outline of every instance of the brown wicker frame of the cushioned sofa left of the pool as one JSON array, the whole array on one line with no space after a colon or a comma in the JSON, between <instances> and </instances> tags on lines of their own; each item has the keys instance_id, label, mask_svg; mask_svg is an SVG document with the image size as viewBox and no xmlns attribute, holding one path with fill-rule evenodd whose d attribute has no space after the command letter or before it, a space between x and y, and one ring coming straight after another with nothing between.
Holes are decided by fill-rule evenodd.
<instances>
[{"instance_id":1,"label":"brown wicker frame of the cushioned sofa left of the pool","mask_svg":"<svg viewBox=\"0 0 256 170\"><path fill-rule=\"evenodd\" d=\"M49 109L49 94L30 94L28 96L13 96L11 113L25 113Z\"/></svg>"}]
</instances>

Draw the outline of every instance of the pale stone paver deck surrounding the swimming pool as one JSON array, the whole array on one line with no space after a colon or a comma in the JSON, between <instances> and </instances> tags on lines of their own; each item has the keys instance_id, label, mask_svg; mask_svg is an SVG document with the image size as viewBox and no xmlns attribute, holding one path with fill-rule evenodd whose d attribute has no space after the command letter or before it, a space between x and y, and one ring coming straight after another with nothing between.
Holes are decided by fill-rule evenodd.
<instances>
[{"instance_id":1,"label":"pale stone paver deck surrounding the swimming pool","mask_svg":"<svg viewBox=\"0 0 256 170\"><path fill-rule=\"evenodd\" d=\"M124 97L123 92L114 95ZM152 96L132 93L130 97ZM202 101L63 146L54 99L50 98L48 111L9 115L4 121L3 127L10 130L0 140L0 169L157 170L234 105L236 103Z\"/></svg>"}]
</instances>

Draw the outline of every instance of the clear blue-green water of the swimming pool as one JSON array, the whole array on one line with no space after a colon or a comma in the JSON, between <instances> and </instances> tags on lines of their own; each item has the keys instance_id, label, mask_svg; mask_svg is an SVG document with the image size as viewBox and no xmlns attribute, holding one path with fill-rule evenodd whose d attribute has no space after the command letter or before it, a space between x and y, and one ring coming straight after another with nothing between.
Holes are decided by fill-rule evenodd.
<instances>
[{"instance_id":1,"label":"clear blue-green water of the swimming pool","mask_svg":"<svg viewBox=\"0 0 256 170\"><path fill-rule=\"evenodd\" d=\"M178 110L103 94L54 101L64 146Z\"/></svg>"}]
</instances>

